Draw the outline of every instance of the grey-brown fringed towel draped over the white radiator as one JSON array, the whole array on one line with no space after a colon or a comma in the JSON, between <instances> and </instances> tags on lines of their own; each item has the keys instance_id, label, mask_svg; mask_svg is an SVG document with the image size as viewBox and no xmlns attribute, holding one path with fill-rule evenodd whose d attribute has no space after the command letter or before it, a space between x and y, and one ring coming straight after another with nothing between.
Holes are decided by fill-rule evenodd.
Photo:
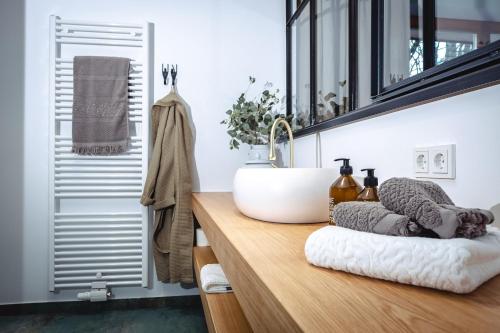
<instances>
[{"instance_id":1,"label":"grey-brown fringed towel draped over the white radiator","mask_svg":"<svg viewBox=\"0 0 500 333\"><path fill-rule=\"evenodd\" d=\"M74 153L108 155L127 150L129 67L127 58L74 58Z\"/></svg>"}]
</instances>

